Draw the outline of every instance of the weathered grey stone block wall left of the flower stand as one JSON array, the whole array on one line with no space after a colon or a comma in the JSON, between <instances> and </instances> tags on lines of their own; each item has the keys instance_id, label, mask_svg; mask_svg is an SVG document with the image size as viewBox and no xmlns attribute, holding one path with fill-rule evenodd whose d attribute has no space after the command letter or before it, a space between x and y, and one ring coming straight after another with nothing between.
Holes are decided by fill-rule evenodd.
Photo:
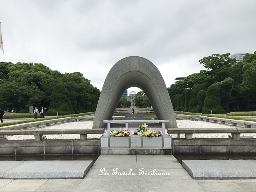
<instances>
[{"instance_id":1,"label":"weathered grey stone block wall left of the flower stand","mask_svg":"<svg viewBox=\"0 0 256 192\"><path fill-rule=\"evenodd\" d=\"M0 140L0 155L100 154L99 139Z\"/></svg>"}]
</instances>

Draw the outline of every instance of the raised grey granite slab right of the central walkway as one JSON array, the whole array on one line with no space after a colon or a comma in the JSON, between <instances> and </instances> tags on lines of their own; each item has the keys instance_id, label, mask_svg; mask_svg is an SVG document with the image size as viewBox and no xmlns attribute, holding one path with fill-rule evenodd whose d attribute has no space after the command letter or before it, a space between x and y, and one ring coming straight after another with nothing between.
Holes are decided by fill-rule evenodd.
<instances>
[{"instance_id":1,"label":"raised grey granite slab right of the central walkway","mask_svg":"<svg viewBox=\"0 0 256 192\"><path fill-rule=\"evenodd\" d=\"M194 179L255 179L251 160L184 160L182 166Z\"/></svg>"}]
</instances>

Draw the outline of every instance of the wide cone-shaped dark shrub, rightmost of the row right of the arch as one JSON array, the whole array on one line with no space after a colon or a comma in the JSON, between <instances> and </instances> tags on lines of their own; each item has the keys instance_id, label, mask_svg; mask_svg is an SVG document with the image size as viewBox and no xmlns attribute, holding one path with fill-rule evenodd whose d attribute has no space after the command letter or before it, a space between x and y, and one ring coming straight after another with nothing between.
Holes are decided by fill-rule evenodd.
<instances>
[{"instance_id":1,"label":"wide cone-shaped dark shrub, rightmost of the row right of the arch","mask_svg":"<svg viewBox=\"0 0 256 192\"><path fill-rule=\"evenodd\" d=\"M221 106L221 96L219 94L219 88L211 85L207 89L206 97L204 99L204 107L202 113L225 113L225 110Z\"/></svg>"}]
</instances>

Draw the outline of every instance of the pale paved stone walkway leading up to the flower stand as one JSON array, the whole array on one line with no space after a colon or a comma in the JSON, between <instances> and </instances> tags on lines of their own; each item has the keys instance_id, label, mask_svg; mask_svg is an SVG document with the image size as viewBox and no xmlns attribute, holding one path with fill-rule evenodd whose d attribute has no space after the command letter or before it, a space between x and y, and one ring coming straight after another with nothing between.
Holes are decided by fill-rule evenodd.
<instances>
[{"instance_id":1,"label":"pale paved stone walkway leading up to the flower stand","mask_svg":"<svg viewBox=\"0 0 256 192\"><path fill-rule=\"evenodd\" d=\"M256 180L193 180L173 155L100 155L84 179L0 180L0 191L255 192Z\"/></svg>"}]
</instances>

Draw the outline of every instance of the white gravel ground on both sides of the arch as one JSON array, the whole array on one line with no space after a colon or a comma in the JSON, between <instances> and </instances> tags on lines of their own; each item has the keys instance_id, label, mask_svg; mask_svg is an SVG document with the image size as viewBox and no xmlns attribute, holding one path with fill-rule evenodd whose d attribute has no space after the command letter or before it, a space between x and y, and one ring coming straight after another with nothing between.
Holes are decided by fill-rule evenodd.
<instances>
[{"instance_id":1,"label":"white gravel ground on both sides of the arch","mask_svg":"<svg viewBox=\"0 0 256 192\"><path fill-rule=\"evenodd\" d=\"M210 123L206 121L189 121L189 120L177 120L178 128L227 128L232 127L228 125L221 125L218 123ZM93 127L93 121L77 121L70 123L63 123L59 125L52 125L48 127L43 127L39 129L91 129ZM111 127L125 127L125 125L111 124ZM161 127L159 124L148 124L148 127ZM107 134L107 130L105 133ZM167 134L165 130L165 134ZM87 138L100 138L102 134L88 134ZM177 134L170 134L172 138L177 138ZM193 138L227 138L229 134L227 133L213 133L213 134L193 134ZM252 135L256 138L256 134L246 134ZM14 135L7 136L8 140L22 140L22 139L35 139L34 135ZM80 139L79 135L46 135L47 139ZM180 138L185 138L185 134L180 134Z\"/></svg>"}]
</instances>

